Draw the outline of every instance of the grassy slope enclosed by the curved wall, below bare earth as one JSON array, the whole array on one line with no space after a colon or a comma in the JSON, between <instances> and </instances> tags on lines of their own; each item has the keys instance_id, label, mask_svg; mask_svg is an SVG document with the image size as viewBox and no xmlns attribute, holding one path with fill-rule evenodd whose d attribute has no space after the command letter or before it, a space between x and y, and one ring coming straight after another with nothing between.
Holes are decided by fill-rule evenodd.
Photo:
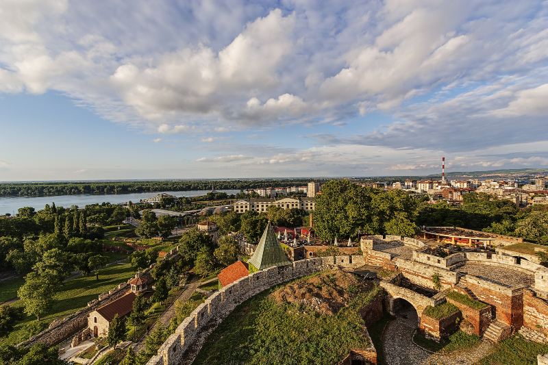
<instances>
[{"instance_id":1,"label":"grassy slope enclosed by the curved wall, below bare earth","mask_svg":"<svg viewBox=\"0 0 548 365\"><path fill-rule=\"evenodd\" d=\"M269 297L275 289L238 305L208 337L195 364L338 364L350 349L369 347L358 303L329 316L277 304ZM371 300L377 290L369 294Z\"/></svg>"}]
</instances>

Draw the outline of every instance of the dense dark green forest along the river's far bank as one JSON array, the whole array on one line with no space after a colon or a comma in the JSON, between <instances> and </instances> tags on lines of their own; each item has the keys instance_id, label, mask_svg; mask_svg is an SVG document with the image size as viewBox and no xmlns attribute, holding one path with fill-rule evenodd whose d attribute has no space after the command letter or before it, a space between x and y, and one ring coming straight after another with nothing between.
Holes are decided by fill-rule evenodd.
<instances>
[{"instance_id":1,"label":"dense dark green forest along the river's far bank","mask_svg":"<svg viewBox=\"0 0 548 365\"><path fill-rule=\"evenodd\" d=\"M127 194L131 192L249 189L303 186L309 179L224 179L163 181L55 181L1 183L0 197L42 197L73 194ZM321 181L320 181L321 182Z\"/></svg>"}]
</instances>

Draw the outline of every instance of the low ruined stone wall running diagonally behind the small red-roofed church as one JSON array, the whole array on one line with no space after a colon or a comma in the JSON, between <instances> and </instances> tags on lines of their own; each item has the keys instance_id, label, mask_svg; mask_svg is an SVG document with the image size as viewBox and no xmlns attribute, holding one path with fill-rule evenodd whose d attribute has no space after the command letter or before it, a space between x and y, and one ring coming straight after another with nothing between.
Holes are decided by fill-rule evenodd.
<instances>
[{"instance_id":1,"label":"low ruined stone wall running diagonally behind the small red-roofed church","mask_svg":"<svg viewBox=\"0 0 548 365\"><path fill-rule=\"evenodd\" d=\"M162 260L171 260L173 257L176 256L177 247L172 249L169 254L166 255ZM154 264L143 270L143 273L147 273L153 267ZM17 344L17 346L32 346L36 343L53 346L62 342L63 340L66 340L66 338L69 338L77 331L81 331L88 326L88 315L91 312L97 310L97 308L102 307L103 305L114 301L115 299L122 297L124 294L127 293L128 290L129 285L127 284L127 281L120 283L112 290L99 294L97 299L89 301L88 305L82 310L66 316L62 320L54 320L47 329L41 331L40 333L37 333L28 340L20 342L19 344ZM73 344L77 344L80 340L84 339L85 336L82 333L79 333L76 337L77 338L73 340Z\"/></svg>"}]
</instances>

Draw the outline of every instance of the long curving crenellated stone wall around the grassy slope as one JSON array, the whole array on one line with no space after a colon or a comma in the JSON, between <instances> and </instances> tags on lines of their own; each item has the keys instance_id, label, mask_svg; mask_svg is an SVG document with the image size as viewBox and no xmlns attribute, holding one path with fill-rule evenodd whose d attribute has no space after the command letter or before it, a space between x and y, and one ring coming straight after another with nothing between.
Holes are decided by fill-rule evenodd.
<instances>
[{"instance_id":1,"label":"long curving crenellated stone wall around the grassy slope","mask_svg":"<svg viewBox=\"0 0 548 365\"><path fill-rule=\"evenodd\" d=\"M149 360L149 365L179 364L185 351L197 340L203 340L204 329L212 329L221 322L236 305L253 295L286 281L310 275L334 266L334 257L317 257L293 262L292 266L272 267L242 277L214 293L199 305L177 327L175 333L158 349L158 355Z\"/></svg>"}]
</instances>

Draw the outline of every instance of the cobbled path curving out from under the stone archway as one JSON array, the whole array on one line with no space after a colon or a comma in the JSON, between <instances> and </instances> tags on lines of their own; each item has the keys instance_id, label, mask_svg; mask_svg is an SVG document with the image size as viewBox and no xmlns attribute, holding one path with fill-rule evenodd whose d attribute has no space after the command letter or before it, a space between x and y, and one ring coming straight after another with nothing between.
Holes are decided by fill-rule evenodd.
<instances>
[{"instance_id":1,"label":"cobbled path curving out from under the stone archway","mask_svg":"<svg viewBox=\"0 0 548 365\"><path fill-rule=\"evenodd\" d=\"M483 340L466 351L448 354L430 353L412 342L416 329L416 314L413 312L412 309L403 312L395 320L391 320L384 329L382 343L387 365L474 364L493 349L493 344Z\"/></svg>"}]
</instances>

